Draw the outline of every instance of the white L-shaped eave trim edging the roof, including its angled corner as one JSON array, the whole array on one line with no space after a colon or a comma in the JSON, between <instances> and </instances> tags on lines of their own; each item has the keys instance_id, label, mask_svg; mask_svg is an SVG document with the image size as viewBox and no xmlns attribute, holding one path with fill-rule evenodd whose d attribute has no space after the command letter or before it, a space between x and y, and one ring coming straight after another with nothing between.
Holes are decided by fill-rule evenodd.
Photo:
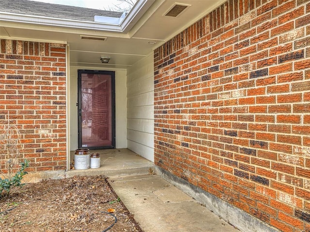
<instances>
[{"instance_id":1,"label":"white L-shaped eave trim edging the roof, including its angled corner","mask_svg":"<svg viewBox=\"0 0 310 232\"><path fill-rule=\"evenodd\" d=\"M124 32L130 30L140 17L147 11L155 0L138 0L133 9L124 17L119 24L109 22L90 22L65 18L45 17L29 14L15 14L0 12L0 21L29 23L36 25L105 30L113 32Z\"/></svg>"}]
</instances>

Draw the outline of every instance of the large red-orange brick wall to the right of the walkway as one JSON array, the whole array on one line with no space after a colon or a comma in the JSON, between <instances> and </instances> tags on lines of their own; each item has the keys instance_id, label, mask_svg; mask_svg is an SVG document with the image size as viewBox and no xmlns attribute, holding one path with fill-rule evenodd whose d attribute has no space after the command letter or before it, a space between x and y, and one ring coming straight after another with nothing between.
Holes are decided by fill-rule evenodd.
<instances>
[{"instance_id":1,"label":"large red-orange brick wall to the right of the walkway","mask_svg":"<svg viewBox=\"0 0 310 232\"><path fill-rule=\"evenodd\" d=\"M310 232L309 0L228 0L154 59L155 164Z\"/></svg>"}]
</instances>

